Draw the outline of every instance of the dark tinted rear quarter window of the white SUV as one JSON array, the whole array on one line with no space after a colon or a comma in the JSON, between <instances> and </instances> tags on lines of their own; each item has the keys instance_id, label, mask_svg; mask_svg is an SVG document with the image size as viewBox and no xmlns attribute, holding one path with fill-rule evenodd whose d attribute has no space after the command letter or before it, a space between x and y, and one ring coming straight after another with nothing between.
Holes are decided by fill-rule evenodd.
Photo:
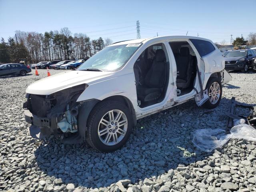
<instances>
[{"instance_id":1,"label":"dark tinted rear quarter window of the white SUV","mask_svg":"<svg viewBox=\"0 0 256 192\"><path fill-rule=\"evenodd\" d=\"M201 57L206 56L215 50L214 46L209 41L200 39L190 39L190 41L194 44Z\"/></svg>"}]
</instances>

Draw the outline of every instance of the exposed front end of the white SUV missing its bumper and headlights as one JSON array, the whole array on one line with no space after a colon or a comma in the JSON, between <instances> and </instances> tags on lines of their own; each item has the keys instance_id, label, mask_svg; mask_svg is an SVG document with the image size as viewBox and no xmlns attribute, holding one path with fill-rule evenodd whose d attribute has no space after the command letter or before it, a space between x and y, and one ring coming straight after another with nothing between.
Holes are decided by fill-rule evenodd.
<instances>
[{"instance_id":1,"label":"exposed front end of the white SUV missing its bumper and headlights","mask_svg":"<svg viewBox=\"0 0 256 192\"><path fill-rule=\"evenodd\" d=\"M78 132L79 103L76 100L87 87L81 84L50 95L27 93L23 108L26 122L32 124L30 135L36 139L51 134L65 138Z\"/></svg>"}]
</instances>

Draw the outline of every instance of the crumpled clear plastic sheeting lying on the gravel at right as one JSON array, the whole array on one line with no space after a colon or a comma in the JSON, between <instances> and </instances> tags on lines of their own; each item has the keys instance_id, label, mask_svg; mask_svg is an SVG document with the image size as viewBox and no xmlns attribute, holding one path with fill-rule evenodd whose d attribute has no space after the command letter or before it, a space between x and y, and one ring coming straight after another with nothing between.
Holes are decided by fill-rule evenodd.
<instances>
[{"instance_id":1,"label":"crumpled clear plastic sheeting lying on the gravel at right","mask_svg":"<svg viewBox=\"0 0 256 192\"><path fill-rule=\"evenodd\" d=\"M193 136L193 144L204 152L211 152L215 148L222 146L232 139L245 139L248 141L256 141L256 130L247 124L244 119L234 121L236 126L232 127L230 134L225 134L223 129L199 129L195 131Z\"/></svg>"}]
</instances>

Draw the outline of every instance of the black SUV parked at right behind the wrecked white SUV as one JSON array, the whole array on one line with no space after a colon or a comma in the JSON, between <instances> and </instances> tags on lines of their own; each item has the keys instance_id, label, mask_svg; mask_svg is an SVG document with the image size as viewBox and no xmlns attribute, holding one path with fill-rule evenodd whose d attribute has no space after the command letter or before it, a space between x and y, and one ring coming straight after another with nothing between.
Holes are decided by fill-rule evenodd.
<instances>
[{"instance_id":1,"label":"black SUV parked at right behind the wrecked white SUV","mask_svg":"<svg viewBox=\"0 0 256 192\"><path fill-rule=\"evenodd\" d=\"M250 49L231 51L225 56L225 69L247 72L249 68L253 68L255 57L255 52Z\"/></svg>"}]
</instances>

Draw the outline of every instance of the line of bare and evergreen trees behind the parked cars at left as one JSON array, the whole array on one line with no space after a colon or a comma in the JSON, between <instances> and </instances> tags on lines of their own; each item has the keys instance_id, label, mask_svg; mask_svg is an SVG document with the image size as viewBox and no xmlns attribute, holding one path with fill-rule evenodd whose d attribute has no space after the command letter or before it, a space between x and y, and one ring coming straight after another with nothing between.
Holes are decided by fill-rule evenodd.
<instances>
[{"instance_id":1,"label":"line of bare and evergreen trees behind the parked cars at left","mask_svg":"<svg viewBox=\"0 0 256 192\"><path fill-rule=\"evenodd\" d=\"M89 58L110 44L110 38L91 40L84 33L72 36L66 27L44 34L17 30L7 42L1 38L0 62L19 62L20 58L26 58L29 63Z\"/></svg>"}]
</instances>

